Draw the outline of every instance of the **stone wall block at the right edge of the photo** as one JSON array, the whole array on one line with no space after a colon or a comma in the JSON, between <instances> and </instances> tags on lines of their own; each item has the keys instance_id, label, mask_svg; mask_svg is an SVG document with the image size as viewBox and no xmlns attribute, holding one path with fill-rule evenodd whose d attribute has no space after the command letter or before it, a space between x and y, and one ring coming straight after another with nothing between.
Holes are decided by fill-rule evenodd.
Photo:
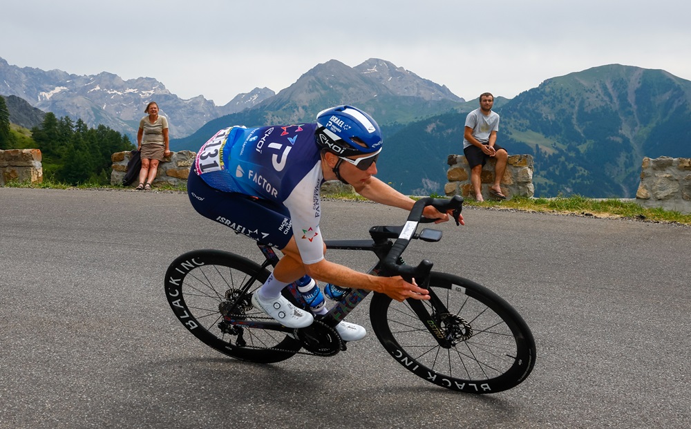
<instances>
[{"instance_id":1,"label":"stone wall block at the right edge of the photo","mask_svg":"<svg viewBox=\"0 0 691 429\"><path fill-rule=\"evenodd\" d=\"M643 158L636 202L691 213L691 158Z\"/></svg>"}]
</instances>

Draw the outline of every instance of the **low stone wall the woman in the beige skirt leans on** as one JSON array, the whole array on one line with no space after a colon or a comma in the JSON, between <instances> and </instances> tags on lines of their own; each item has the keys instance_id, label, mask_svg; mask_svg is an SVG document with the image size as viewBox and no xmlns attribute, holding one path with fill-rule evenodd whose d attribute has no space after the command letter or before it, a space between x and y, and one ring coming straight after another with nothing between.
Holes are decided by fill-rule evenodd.
<instances>
[{"instance_id":1,"label":"low stone wall the woman in the beige skirt leans on","mask_svg":"<svg viewBox=\"0 0 691 429\"><path fill-rule=\"evenodd\" d=\"M117 152L111 155L111 160L113 161L111 184L122 184L122 178L124 178L127 171L127 162L129 162L131 155L132 153L129 151ZM156 173L156 178L151 185L153 187L160 184L169 184L171 186L187 185L187 175L189 175L189 169L194 162L195 156L195 152L180 151L173 152L170 156L163 158L163 161L158 164L158 173ZM136 187L138 184L139 180L135 179L131 187Z\"/></svg>"}]
</instances>

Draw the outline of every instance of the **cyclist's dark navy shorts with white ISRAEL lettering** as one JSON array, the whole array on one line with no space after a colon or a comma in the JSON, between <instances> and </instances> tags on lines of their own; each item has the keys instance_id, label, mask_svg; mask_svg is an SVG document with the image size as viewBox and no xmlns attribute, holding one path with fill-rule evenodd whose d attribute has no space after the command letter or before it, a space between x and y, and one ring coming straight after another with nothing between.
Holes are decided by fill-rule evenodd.
<instances>
[{"instance_id":1,"label":"cyclist's dark navy shorts with white ISRAEL lettering","mask_svg":"<svg viewBox=\"0 0 691 429\"><path fill-rule=\"evenodd\" d=\"M283 249L293 236L288 209L280 204L243 193L210 187L192 167L187 177L187 196L192 207L236 233Z\"/></svg>"}]
</instances>

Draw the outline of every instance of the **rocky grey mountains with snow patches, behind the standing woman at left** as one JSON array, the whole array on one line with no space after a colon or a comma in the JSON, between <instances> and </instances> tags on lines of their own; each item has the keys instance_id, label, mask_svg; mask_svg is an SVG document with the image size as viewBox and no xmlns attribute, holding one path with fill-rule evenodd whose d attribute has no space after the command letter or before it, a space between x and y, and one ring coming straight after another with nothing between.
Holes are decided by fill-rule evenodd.
<instances>
[{"instance_id":1,"label":"rocky grey mountains with snow patches, behind the standing woman at left","mask_svg":"<svg viewBox=\"0 0 691 429\"><path fill-rule=\"evenodd\" d=\"M171 136L184 137L216 117L242 111L275 95L269 88L254 88L236 95L225 106L216 106L201 95L182 99L152 77L123 80L106 72L73 75L62 70L20 68L2 58L0 82L0 95L15 95L57 117L81 119L91 127L102 124L131 138L137 135L150 101L156 101L169 118Z\"/></svg>"}]
</instances>

